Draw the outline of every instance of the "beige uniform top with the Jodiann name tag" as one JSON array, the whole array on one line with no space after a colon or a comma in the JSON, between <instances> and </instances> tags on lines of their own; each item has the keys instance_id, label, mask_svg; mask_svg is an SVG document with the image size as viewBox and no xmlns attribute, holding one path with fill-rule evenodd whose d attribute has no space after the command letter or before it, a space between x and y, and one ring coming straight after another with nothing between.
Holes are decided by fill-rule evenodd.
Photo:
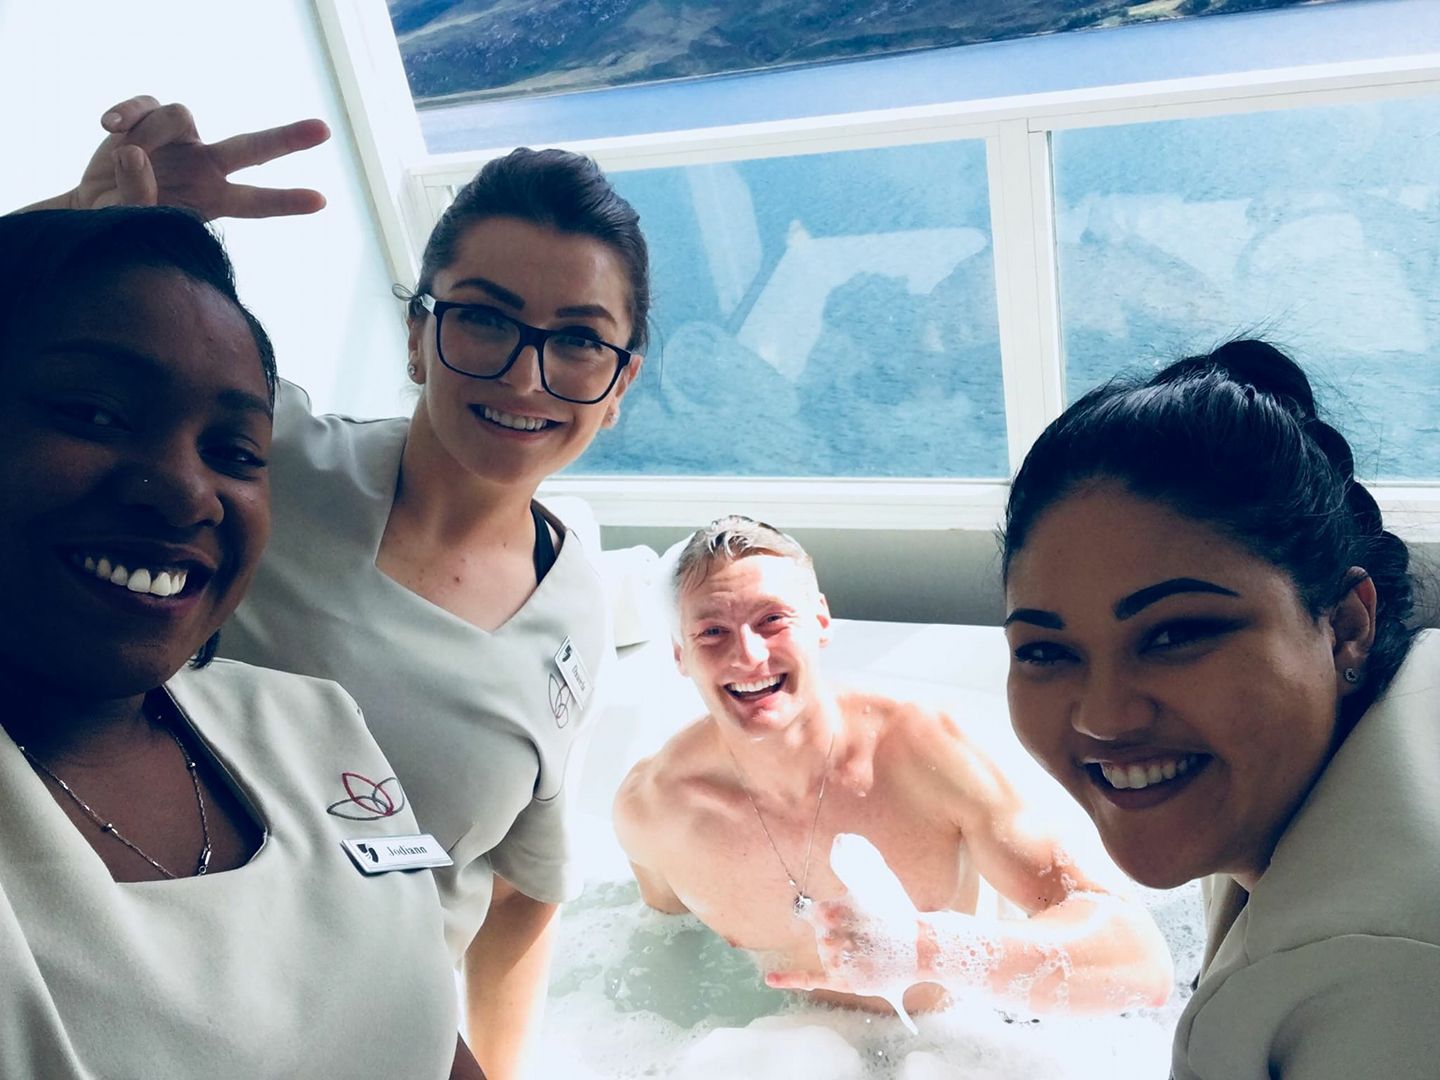
<instances>
[{"instance_id":1,"label":"beige uniform top with the Jodiann name tag","mask_svg":"<svg viewBox=\"0 0 1440 1080\"><path fill-rule=\"evenodd\" d=\"M167 688L261 848L236 870L117 883L0 732L0 1077L448 1076L455 986L431 871L366 877L340 847L418 831L354 701L228 661ZM389 802L357 808L343 773Z\"/></svg>"}]
</instances>

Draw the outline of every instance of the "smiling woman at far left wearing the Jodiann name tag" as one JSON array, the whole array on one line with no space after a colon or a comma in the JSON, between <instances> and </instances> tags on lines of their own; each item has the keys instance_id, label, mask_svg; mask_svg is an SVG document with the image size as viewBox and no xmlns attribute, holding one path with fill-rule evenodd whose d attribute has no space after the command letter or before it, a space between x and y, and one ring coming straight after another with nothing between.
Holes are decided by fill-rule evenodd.
<instances>
[{"instance_id":1,"label":"smiling woman at far left wearing the Jodiann name tag","mask_svg":"<svg viewBox=\"0 0 1440 1080\"><path fill-rule=\"evenodd\" d=\"M428 871L364 874L333 683L213 661L275 359L193 215L0 217L0 1076L478 1077ZM452 1071L454 1068L454 1071Z\"/></svg>"}]
</instances>

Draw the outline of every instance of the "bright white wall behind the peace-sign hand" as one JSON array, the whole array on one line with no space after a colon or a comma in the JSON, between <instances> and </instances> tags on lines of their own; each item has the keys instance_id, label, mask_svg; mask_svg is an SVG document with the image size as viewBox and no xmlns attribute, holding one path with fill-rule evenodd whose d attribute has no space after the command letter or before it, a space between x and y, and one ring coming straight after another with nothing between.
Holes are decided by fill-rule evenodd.
<instances>
[{"instance_id":1,"label":"bright white wall behind the peace-sign hand","mask_svg":"<svg viewBox=\"0 0 1440 1080\"><path fill-rule=\"evenodd\" d=\"M399 302L312 6L0 0L0 207L72 187L101 114L132 94L190 105L209 140L302 117L330 124L324 147L242 174L317 187L327 209L220 228L284 376L320 409L408 412Z\"/></svg>"}]
</instances>

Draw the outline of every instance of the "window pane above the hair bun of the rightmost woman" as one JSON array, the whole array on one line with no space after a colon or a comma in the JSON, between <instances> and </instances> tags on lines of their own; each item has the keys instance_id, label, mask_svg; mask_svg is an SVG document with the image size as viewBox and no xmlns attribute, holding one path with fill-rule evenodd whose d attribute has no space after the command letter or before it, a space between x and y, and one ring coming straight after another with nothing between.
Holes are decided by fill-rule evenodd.
<instances>
[{"instance_id":1,"label":"window pane above the hair bun of the rightmost woman","mask_svg":"<svg viewBox=\"0 0 1440 1080\"><path fill-rule=\"evenodd\" d=\"M1440 98L1054 137L1071 396L1261 336L1364 475L1440 477Z\"/></svg>"}]
</instances>

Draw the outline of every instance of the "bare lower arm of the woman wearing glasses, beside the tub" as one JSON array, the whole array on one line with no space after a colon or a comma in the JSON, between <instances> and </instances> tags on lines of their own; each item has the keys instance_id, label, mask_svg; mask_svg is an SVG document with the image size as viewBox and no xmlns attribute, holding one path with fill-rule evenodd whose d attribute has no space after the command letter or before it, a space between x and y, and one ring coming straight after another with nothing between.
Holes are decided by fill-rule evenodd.
<instances>
[{"instance_id":1,"label":"bare lower arm of the woman wearing glasses, beside the tub","mask_svg":"<svg viewBox=\"0 0 1440 1080\"><path fill-rule=\"evenodd\" d=\"M465 949L465 1031L491 1080L518 1076L541 1011L557 910L497 876L485 922Z\"/></svg>"}]
</instances>

